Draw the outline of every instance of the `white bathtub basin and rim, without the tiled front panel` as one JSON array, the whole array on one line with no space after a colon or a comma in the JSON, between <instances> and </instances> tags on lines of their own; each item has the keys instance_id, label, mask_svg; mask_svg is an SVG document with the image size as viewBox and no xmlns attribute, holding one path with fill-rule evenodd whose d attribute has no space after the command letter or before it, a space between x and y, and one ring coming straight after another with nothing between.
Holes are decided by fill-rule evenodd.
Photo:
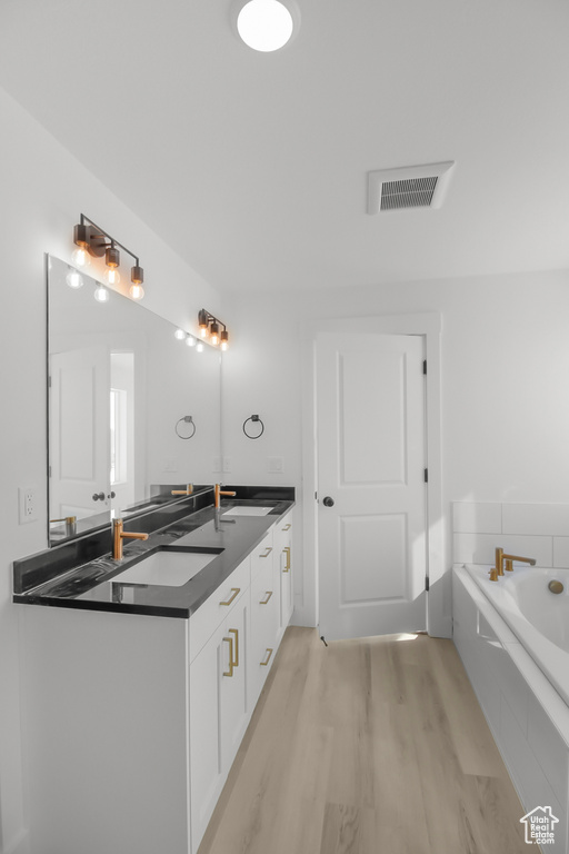
<instances>
[{"instance_id":1,"label":"white bathtub basin and rim, without the tiled front panel","mask_svg":"<svg viewBox=\"0 0 569 854\"><path fill-rule=\"evenodd\" d=\"M569 705L569 569L516 564L497 582L490 580L489 566L465 569ZM551 580L561 582L563 592L551 593Z\"/></svg>"}]
</instances>

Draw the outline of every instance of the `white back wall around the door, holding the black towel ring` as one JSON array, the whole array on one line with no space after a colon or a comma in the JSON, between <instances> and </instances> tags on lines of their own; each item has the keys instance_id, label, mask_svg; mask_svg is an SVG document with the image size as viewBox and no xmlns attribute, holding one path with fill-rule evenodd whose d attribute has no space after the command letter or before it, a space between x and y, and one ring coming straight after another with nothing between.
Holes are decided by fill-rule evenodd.
<instances>
[{"instance_id":1,"label":"white back wall around the door, holding the black towel ring","mask_svg":"<svg viewBox=\"0 0 569 854\"><path fill-rule=\"evenodd\" d=\"M445 566L451 566L451 502L569 500L569 272L316 290L286 299L241 295L233 311L239 339L224 367L224 451L238 460L234 480L247 470L257 483L302 486L301 424L311 400L303 399L300 380L311 370L308 341L319 321L435 311L442 316ZM239 421L261 409L261 400L264 445L247 446ZM282 476L267 474L268 455L283 456ZM309 540L306 530L309 560L297 577L297 618L307 624L315 617ZM442 634L450 628L447 584Z\"/></svg>"}]
</instances>

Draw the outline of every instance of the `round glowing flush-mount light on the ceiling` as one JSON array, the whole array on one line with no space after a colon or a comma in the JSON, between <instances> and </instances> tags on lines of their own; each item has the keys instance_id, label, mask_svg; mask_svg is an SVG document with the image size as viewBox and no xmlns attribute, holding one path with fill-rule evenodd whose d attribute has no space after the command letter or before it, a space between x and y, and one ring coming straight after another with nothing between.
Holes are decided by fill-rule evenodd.
<instances>
[{"instance_id":1,"label":"round glowing flush-mount light on the ceiling","mask_svg":"<svg viewBox=\"0 0 569 854\"><path fill-rule=\"evenodd\" d=\"M239 37L249 48L270 53L296 36L300 12L293 0L237 0L233 19Z\"/></svg>"}]
</instances>

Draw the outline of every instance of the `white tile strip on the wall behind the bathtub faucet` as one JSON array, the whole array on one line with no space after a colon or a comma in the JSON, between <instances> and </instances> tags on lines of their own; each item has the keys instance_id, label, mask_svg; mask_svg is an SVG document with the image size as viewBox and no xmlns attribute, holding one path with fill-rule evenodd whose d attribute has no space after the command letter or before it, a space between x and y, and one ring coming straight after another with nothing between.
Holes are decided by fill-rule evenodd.
<instances>
[{"instance_id":1,"label":"white tile strip on the wall behind the bathtub faucet","mask_svg":"<svg viewBox=\"0 0 569 854\"><path fill-rule=\"evenodd\" d=\"M497 546L539 566L569 568L569 504L455 502L453 563L491 564Z\"/></svg>"}]
</instances>

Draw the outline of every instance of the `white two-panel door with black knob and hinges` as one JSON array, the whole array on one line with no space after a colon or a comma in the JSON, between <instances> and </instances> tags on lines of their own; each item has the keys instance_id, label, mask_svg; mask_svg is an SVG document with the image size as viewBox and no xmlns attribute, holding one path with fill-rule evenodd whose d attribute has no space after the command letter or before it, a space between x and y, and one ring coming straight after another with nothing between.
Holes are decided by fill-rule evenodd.
<instances>
[{"instance_id":1,"label":"white two-panel door with black knob and hinges","mask_svg":"<svg viewBox=\"0 0 569 854\"><path fill-rule=\"evenodd\" d=\"M426 627L422 365L420 336L318 337L319 604L327 639Z\"/></svg>"}]
</instances>

